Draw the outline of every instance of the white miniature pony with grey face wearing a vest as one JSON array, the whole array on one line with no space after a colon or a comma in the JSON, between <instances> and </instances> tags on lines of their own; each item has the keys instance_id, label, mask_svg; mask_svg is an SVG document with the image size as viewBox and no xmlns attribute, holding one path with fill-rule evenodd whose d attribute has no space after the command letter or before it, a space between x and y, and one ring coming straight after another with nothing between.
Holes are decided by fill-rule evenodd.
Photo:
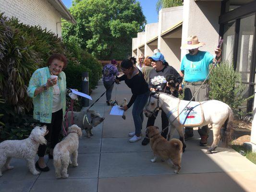
<instances>
[{"instance_id":1,"label":"white miniature pony with grey face wearing a vest","mask_svg":"<svg viewBox=\"0 0 256 192\"><path fill-rule=\"evenodd\" d=\"M154 113L161 108L165 114L171 114L169 117L169 122L171 123L171 130L169 133L168 140L172 137L172 134L175 129L177 129L180 140L183 143L183 150L186 147L183 135L183 127L193 127L193 126L184 126L181 124L177 118L179 102L189 102L184 101L179 98L167 95L165 93L156 93L151 94L149 97L148 104L145 107L145 115L146 117L150 117L154 115ZM224 131L222 132L222 140L223 143L226 145L231 142L232 139L232 120L233 120L233 112L232 109L225 103L218 101L218 100L208 100L200 102L202 111L203 111L203 121L201 124L197 125L196 127L205 126L211 124L212 131L213 131L213 143L211 147L207 150L207 154L211 154L213 150L219 144L220 140L220 129L222 125L224 125ZM171 113L170 113L171 112ZM173 122L172 122L173 121ZM195 127L195 126L194 126Z\"/></svg>"}]
</instances>

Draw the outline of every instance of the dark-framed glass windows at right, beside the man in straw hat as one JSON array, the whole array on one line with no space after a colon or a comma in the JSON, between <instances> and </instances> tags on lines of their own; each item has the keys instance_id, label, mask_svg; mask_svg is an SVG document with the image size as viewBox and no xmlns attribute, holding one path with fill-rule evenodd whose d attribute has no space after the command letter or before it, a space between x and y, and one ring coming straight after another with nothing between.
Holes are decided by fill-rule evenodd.
<instances>
[{"instance_id":1,"label":"dark-framed glass windows at right, beside the man in straw hat","mask_svg":"<svg viewBox=\"0 0 256 192\"><path fill-rule=\"evenodd\" d=\"M222 61L233 63L241 74L247 98L256 91L256 0L223 0L221 5ZM248 100L241 109L252 112L253 101Z\"/></svg>"}]
</instances>

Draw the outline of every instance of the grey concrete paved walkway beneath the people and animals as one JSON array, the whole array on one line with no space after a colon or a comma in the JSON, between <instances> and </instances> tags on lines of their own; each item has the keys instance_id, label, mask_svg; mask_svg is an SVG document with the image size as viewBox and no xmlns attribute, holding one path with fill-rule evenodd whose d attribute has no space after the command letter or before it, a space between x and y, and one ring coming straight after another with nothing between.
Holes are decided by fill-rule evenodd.
<instances>
[{"instance_id":1,"label":"grey concrete paved walkway beneath the people and animals","mask_svg":"<svg viewBox=\"0 0 256 192\"><path fill-rule=\"evenodd\" d=\"M115 85L116 86L116 85ZM104 92L104 86L93 91L93 99ZM130 89L118 85L116 98L130 99ZM112 98L115 97L115 88ZM131 109L126 120L110 116L110 106L105 96L94 106L106 118L93 129L94 136L80 139L78 167L70 166L69 178L56 180L52 160L48 160L49 172L38 176L30 174L25 162L12 159L14 169L0 178L0 192L255 192L256 165L244 156L228 148L206 155L207 147L201 147L199 135L187 141L180 174L173 173L167 163L150 162L153 157L150 146L141 142L129 143L128 132L134 131ZM156 125L160 126L160 118ZM144 129L146 118L144 120ZM210 132L212 142L212 132ZM178 138L177 132L174 137ZM220 144L221 146L221 144Z\"/></svg>"}]
</instances>

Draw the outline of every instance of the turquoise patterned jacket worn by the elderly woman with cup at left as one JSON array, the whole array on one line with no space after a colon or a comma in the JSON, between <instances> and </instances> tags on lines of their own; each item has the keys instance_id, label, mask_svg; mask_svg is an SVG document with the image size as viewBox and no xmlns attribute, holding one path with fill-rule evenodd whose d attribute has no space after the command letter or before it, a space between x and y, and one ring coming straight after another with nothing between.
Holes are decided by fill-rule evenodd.
<instances>
[{"instance_id":1,"label":"turquoise patterned jacket worn by the elderly woman with cup at left","mask_svg":"<svg viewBox=\"0 0 256 192\"><path fill-rule=\"evenodd\" d=\"M34 93L36 88L46 84L49 78L50 71L48 67L37 69L33 73L27 89L27 95L33 98L34 119L42 123L51 123L53 87L49 87L47 91L43 91L37 96L34 96ZM66 109L66 75L64 72L60 72L58 75L58 86L61 91L61 105L64 115Z\"/></svg>"}]
</instances>

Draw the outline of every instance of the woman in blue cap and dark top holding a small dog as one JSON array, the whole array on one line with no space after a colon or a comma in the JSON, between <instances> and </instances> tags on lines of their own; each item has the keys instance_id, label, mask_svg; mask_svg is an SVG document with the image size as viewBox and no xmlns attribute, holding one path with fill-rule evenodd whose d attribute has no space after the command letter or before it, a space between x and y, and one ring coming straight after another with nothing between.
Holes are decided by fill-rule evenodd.
<instances>
[{"instance_id":1,"label":"woman in blue cap and dark top holding a small dog","mask_svg":"<svg viewBox=\"0 0 256 192\"><path fill-rule=\"evenodd\" d=\"M179 84L182 83L182 77L173 67L171 67L164 60L163 54L161 54L160 52L154 53L154 55L152 57L149 57L148 59L152 60L151 65L153 67L153 70L151 70L149 73L149 79L147 82L150 91L157 91L156 87L151 82L151 80L156 76L164 76L164 78L167 78L167 76L172 75L173 77L175 77L177 79L177 82ZM161 92L171 94L170 87L169 87L169 85L167 85L167 83L160 84L160 90L161 90ZM173 96L178 97L178 92ZM146 127L154 125L157 115L158 115L158 112L155 114L155 116L151 116L148 118ZM162 121L162 130L163 130L169 124L169 120L163 111L161 112L161 121ZM161 133L161 135L164 138L167 137L167 134L168 134L168 129L166 129L164 132ZM145 137L144 140L142 141L142 145L146 145L148 143L149 143L149 139Z\"/></svg>"}]
</instances>

